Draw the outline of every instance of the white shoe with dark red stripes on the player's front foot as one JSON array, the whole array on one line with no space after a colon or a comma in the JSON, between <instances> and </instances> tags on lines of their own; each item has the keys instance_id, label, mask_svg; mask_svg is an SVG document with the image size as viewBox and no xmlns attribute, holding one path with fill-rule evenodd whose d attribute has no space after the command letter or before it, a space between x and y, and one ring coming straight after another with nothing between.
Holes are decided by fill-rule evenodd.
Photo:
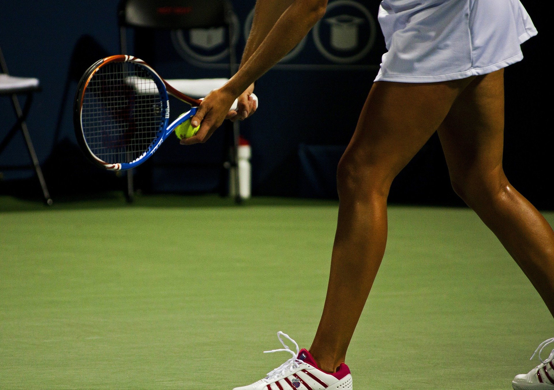
<instances>
[{"instance_id":1,"label":"white shoe with dark red stripes on the player's front foot","mask_svg":"<svg viewBox=\"0 0 554 390\"><path fill-rule=\"evenodd\" d=\"M285 336L296 346L296 353L284 343L281 336ZM278 332L277 337L284 348L271 352L289 352L293 355L275 370L268 373L263 379L249 386L235 387L233 390L352 390L352 376L350 369L342 363L337 372L330 374L321 371L310 352L300 350L296 341L283 332Z\"/></svg>"}]
</instances>

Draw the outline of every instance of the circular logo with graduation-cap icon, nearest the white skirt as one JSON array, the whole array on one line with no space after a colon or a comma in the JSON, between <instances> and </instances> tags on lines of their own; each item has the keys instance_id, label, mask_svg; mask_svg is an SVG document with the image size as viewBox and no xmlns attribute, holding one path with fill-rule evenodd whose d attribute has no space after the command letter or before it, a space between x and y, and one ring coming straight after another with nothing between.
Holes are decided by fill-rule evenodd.
<instances>
[{"instance_id":1,"label":"circular logo with graduation-cap icon, nearest the white skirt","mask_svg":"<svg viewBox=\"0 0 554 390\"><path fill-rule=\"evenodd\" d=\"M375 19L362 4L337 0L312 29L317 50L339 64L351 64L370 52L377 35Z\"/></svg>"}]
</instances>

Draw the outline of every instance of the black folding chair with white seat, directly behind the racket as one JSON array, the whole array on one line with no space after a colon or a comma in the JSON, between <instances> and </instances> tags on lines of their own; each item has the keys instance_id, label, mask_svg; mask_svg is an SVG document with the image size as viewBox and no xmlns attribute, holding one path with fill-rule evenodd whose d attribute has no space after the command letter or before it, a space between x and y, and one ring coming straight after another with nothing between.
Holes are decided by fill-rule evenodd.
<instances>
[{"instance_id":1,"label":"black folding chair with white seat, directly behind the racket","mask_svg":"<svg viewBox=\"0 0 554 390\"><path fill-rule=\"evenodd\" d=\"M122 0L119 7L120 44L122 54L131 54L127 47L127 28L189 30L193 28L225 27L231 36L233 10L225 0ZM229 41L230 76L237 71L237 55ZM167 80L174 88L193 98L203 98L213 89L219 88L229 79L172 79ZM229 161L223 166L229 169L232 188L237 202L241 201L238 191L238 145L239 122L233 123L233 141L230 145ZM127 171L127 199L134 192L132 170Z\"/></svg>"}]
</instances>

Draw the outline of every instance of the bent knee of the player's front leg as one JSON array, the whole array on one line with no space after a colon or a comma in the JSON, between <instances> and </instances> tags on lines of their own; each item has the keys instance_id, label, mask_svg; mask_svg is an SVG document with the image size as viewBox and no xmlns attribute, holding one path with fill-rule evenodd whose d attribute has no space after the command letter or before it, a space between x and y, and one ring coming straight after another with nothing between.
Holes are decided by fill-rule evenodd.
<instances>
[{"instance_id":1,"label":"bent knee of the player's front leg","mask_svg":"<svg viewBox=\"0 0 554 390\"><path fill-rule=\"evenodd\" d=\"M388 195L390 183L383 169L371 159L356 158L346 152L338 162L337 191L341 200L367 198L371 194Z\"/></svg>"}]
</instances>

